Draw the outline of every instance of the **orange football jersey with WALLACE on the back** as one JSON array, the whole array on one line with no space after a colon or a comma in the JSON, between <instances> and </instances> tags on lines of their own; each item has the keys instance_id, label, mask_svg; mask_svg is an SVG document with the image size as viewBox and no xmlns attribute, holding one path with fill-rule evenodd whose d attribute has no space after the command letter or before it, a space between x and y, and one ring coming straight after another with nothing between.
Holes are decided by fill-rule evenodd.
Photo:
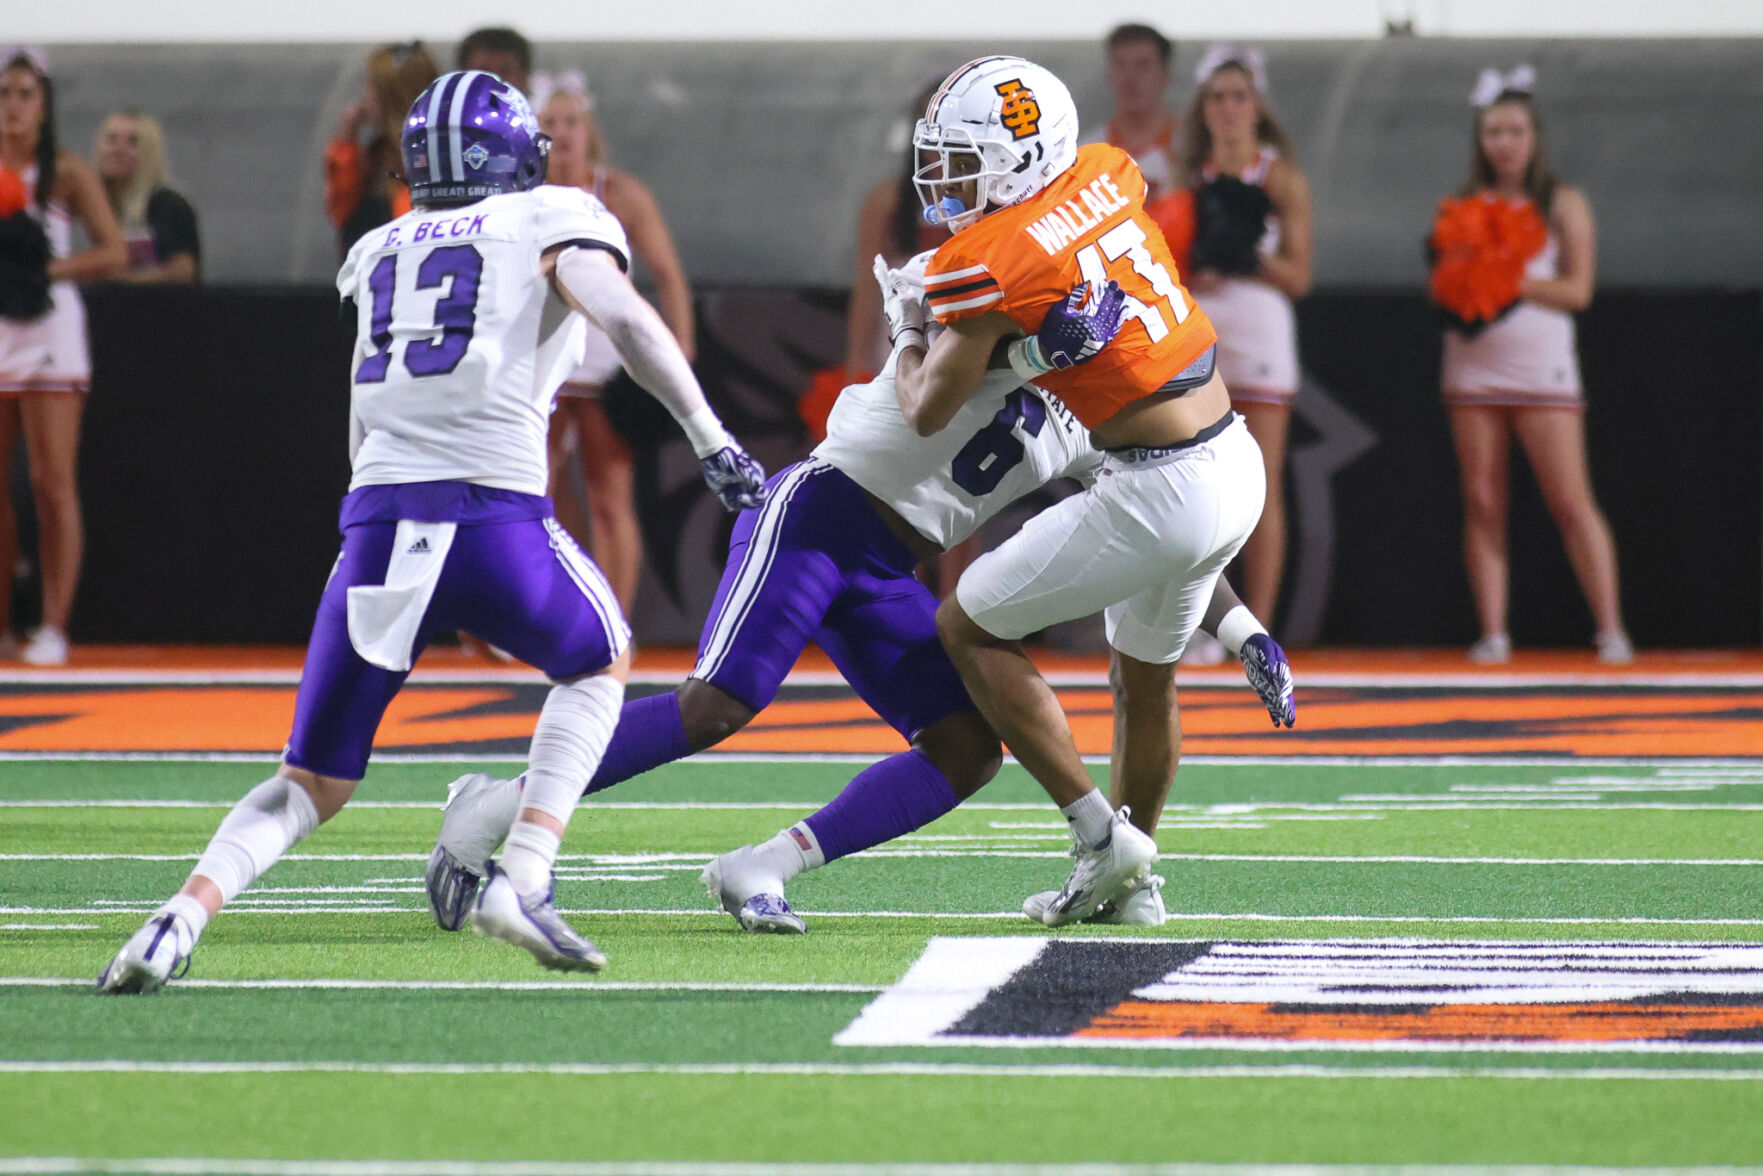
<instances>
[{"instance_id":1,"label":"orange football jersey with WALLACE on the back","mask_svg":"<svg viewBox=\"0 0 1763 1176\"><path fill-rule=\"evenodd\" d=\"M936 250L924 273L931 312L947 324L998 310L1033 335L1079 282L1120 282L1127 310L1114 342L1088 363L1035 379L1095 428L1218 340L1144 213L1144 190L1127 152L1107 143L1077 148L1077 162L1045 189L987 213Z\"/></svg>"}]
</instances>

